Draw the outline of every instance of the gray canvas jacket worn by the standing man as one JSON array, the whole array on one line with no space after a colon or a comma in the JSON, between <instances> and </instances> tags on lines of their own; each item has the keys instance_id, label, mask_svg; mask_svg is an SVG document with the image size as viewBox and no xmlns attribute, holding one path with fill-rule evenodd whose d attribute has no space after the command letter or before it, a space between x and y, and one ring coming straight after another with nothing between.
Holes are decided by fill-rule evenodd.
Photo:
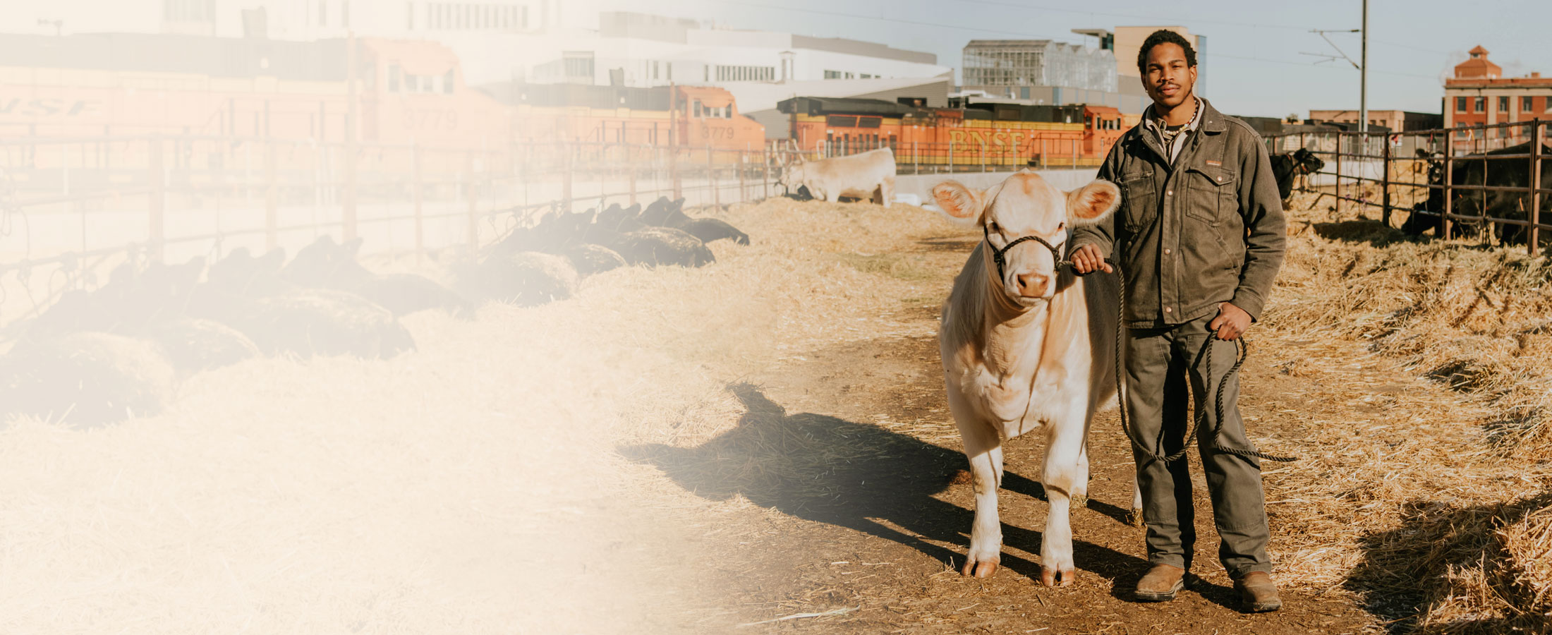
<instances>
[{"instance_id":1,"label":"gray canvas jacket worn by the standing man","mask_svg":"<svg viewBox=\"0 0 1552 635\"><path fill-rule=\"evenodd\" d=\"M1197 132L1167 157L1142 124L1122 135L1099 168L1121 208L1074 230L1072 248L1093 244L1121 264L1130 328L1181 324L1223 301L1260 320L1287 242L1266 144L1203 101Z\"/></svg>"}]
</instances>

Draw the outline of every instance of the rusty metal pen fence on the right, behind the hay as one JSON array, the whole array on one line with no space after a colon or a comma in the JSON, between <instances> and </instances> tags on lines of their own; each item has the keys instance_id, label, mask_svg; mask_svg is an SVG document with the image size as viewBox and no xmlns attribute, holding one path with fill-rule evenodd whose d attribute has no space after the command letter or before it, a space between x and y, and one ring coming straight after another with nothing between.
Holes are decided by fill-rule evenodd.
<instances>
[{"instance_id":1,"label":"rusty metal pen fence on the right, behind the hay","mask_svg":"<svg viewBox=\"0 0 1552 635\"><path fill-rule=\"evenodd\" d=\"M1541 186L1544 161L1552 160L1541 120L1400 134L1304 132L1268 135L1266 143L1273 154L1302 147L1322 157L1325 168L1305 177L1296 191L1330 196L1338 214L1342 203L1378 208L1381 220L1391 225L1392 213L1403 211L1437 219L1440 236L1451 236L1457 224L1484 227L1484 242L1509 236L1507 228L1523 228L1532 255L1540 252L1541 230L1552 230L1541 222L1541 210L1552 202L1552 188ZM1505 152L1521 144L1524 152ZM1512 183L1519 169L1527 179ZM1332 191L1322 189L1325 185ZM1519 194L1510 211L1524 217L1491 216L1507 203L1491 193ZM1468 210L1459 210L1462 203ZM1499 203L1499 211L1493 203Z\"/></svg>"}]
</instances>

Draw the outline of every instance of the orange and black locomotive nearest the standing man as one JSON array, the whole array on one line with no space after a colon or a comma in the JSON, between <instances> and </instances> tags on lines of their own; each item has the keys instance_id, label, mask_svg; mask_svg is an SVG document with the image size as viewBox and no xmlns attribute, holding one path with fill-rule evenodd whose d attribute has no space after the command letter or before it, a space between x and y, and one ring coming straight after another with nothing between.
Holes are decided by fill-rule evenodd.
<instances>
[{"instance_id":1,"label":"orange and black locomotive nearest the standing man","mask_svg":"<svg viewBox=\"0 0 1552 635\"><path fill-rule=\"evenodd\" d=\"M1103 106L975 102L928 109L882 99L793 98L776 104L802 152L891 147L899 165L1091 166L1121 137Z\"/></svg>"}]
</instances>

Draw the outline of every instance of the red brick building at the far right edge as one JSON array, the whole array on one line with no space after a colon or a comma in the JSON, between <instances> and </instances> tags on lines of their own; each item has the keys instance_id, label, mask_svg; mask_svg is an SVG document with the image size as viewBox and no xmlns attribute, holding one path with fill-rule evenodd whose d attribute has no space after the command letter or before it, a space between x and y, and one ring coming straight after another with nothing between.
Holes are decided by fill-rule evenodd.
<instances>
[{"instance_id":1,"label":"red brick building at the far right edge","mask_svg":"<svg viewBox=\"0 0 1552 635\"><path fill-rule=\"evenodd\" d=\"M1504 78L1485 48L1470 53L1471 59L1456 65L1454 78L1445 79L1445 127L1552 120L1552 78ZM1488 130L1487 137L1502 138L1504 130Z\"/></svg>"}]
</instances>

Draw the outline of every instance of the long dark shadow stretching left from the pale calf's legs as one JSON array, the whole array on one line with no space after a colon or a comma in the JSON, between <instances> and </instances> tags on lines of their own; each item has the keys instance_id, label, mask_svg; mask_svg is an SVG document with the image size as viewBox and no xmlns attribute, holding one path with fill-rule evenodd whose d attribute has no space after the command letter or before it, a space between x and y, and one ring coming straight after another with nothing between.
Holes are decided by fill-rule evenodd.
<instances>
[{"instance_id":1,"label":"long dark shadow stretching left from the pale calf's legs","mask_svg":"<svg viewBox=\"0 0 1552 635\"><path fill-rule=\"evenodd\" d=\"M733 430L694 449L629 446L621 455L656 466L708 500L743 495L762 508L894 540L939 562L964 562L973 512L936 497L965 466L964 453L835 416L788 415L750 383L728 388L747 408ZM1038 483L1012 472L1003 484L1004 495L1043 497ZM1038 531L1004 523L1003 540L1040 553ZM1080 567L1111 579L1141 567L1136 557L1080 540L1074 551ZM1006 548L1003 567L1027 578L1040 573L1038 562Z\"/></svg>"}]
</instances>

